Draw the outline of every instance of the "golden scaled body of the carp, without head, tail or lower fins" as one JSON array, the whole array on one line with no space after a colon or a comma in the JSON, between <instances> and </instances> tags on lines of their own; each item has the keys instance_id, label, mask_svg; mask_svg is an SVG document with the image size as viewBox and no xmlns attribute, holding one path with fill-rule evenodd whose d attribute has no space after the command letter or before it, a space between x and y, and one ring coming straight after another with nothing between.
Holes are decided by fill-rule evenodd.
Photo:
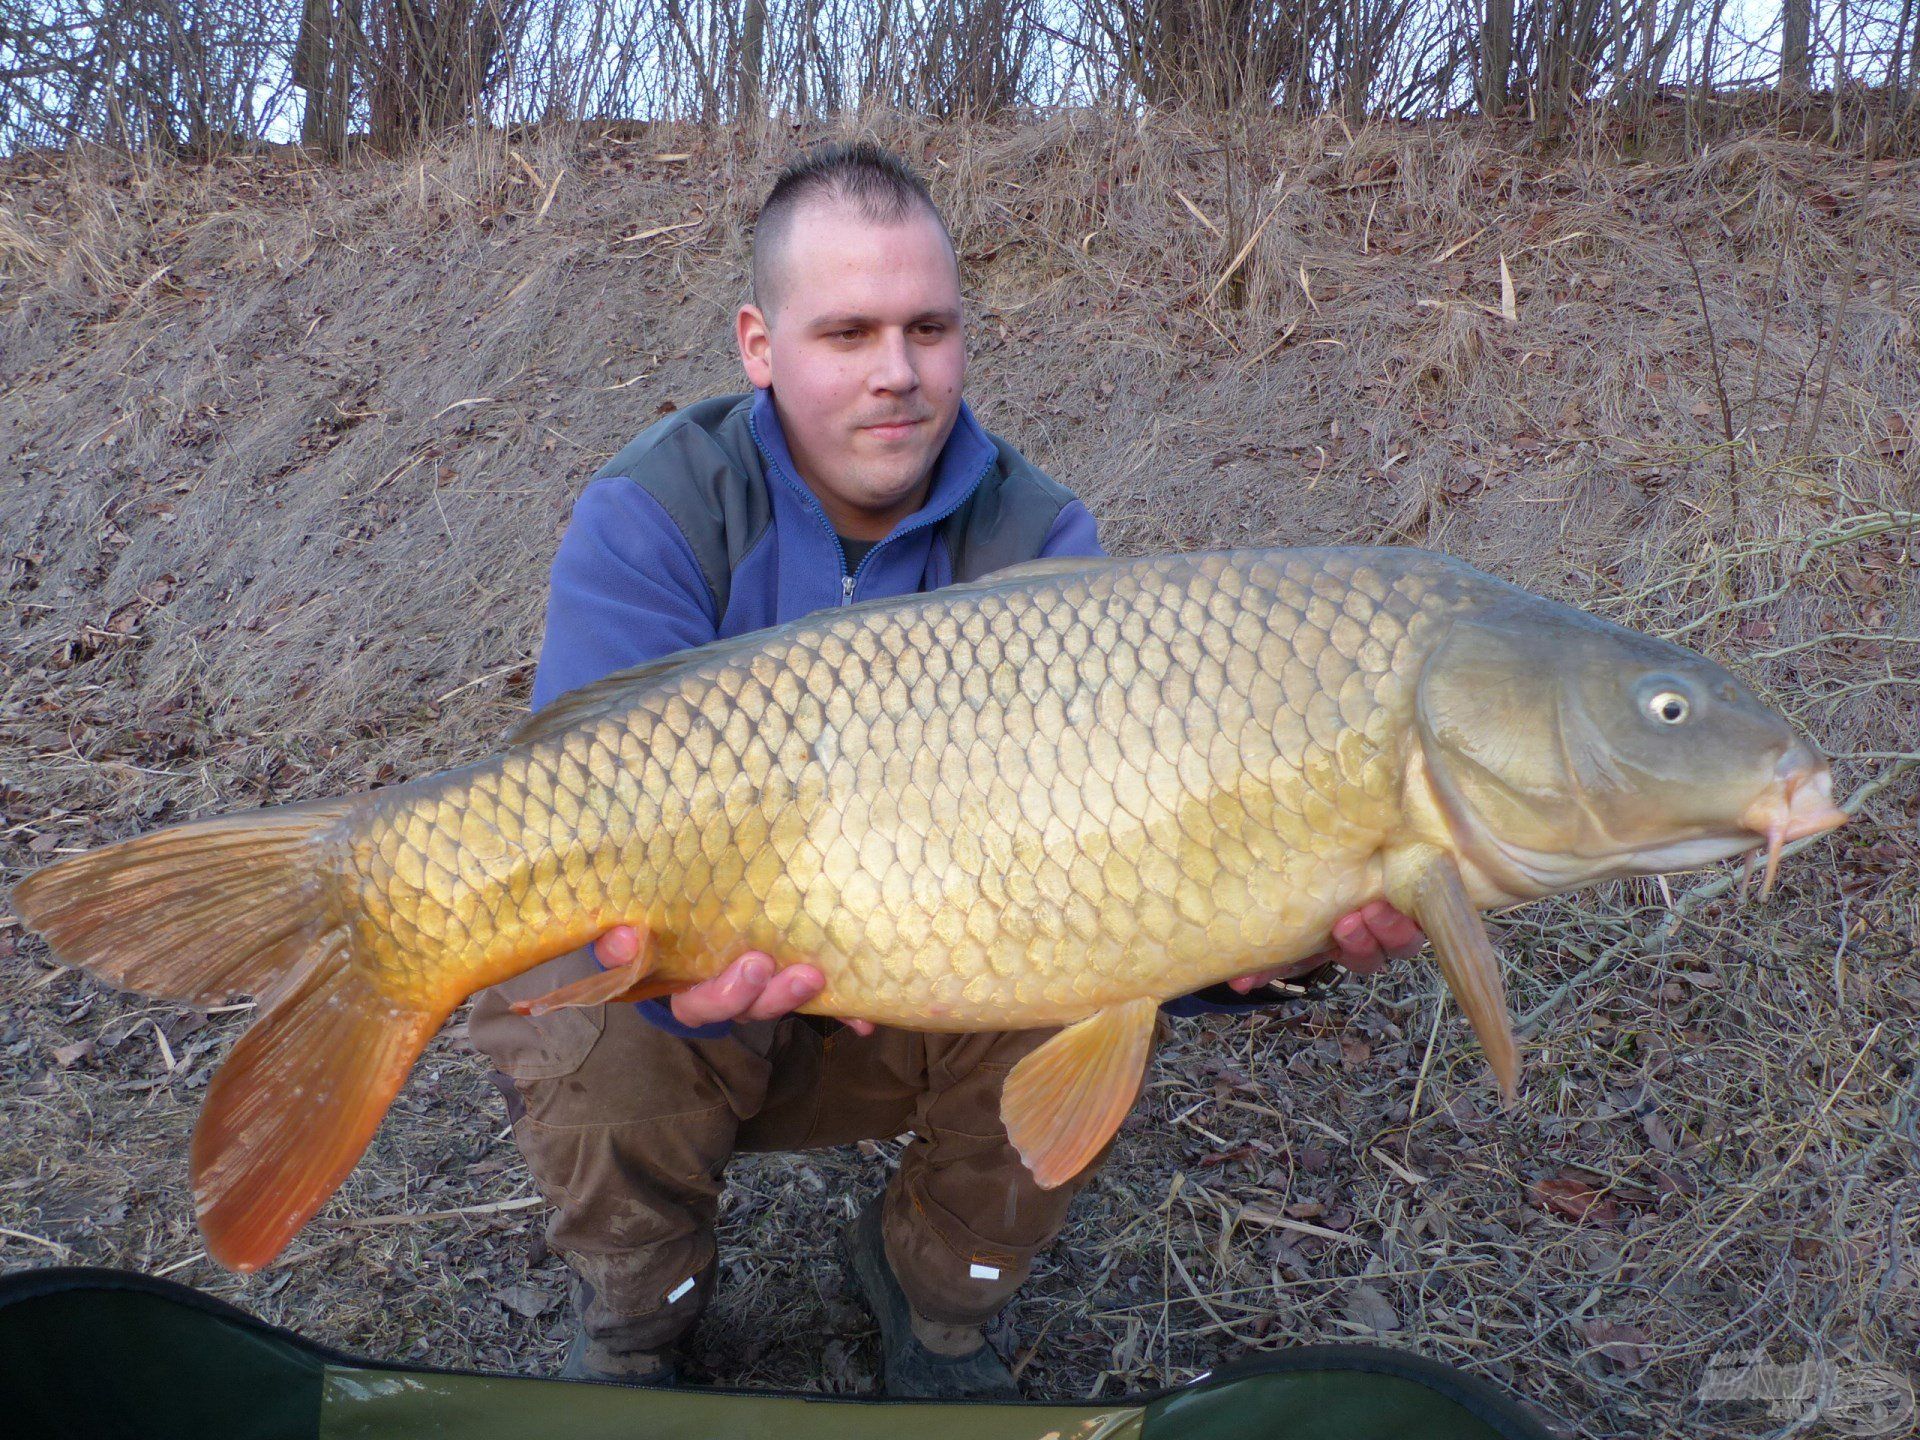
<instances>
[{"instance_id":1,"label":"golden scaled body of the carp, without head, tail or lower fins","mask_svg":"<svg viewBox=\"0 0 1920 1440\"><path fill-rule=\"evenodd\" d=\"M348 843L407 1004L647 929L662 979L810 962L820 1014L1073 1020L1292 958L1379 889L1430 557L1227 553L939 591L630 685ZM380 927L386 935L380 937Z\"/></svg>"}]
</instances>

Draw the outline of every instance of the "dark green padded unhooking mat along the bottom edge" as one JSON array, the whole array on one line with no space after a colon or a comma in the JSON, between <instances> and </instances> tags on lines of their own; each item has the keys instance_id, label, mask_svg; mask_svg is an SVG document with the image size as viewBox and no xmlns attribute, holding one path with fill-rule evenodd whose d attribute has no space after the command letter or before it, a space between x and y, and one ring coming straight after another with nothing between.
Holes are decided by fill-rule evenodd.
<instances>
[{"instance_id":1,"label":"dark green padded unhooking mat along the bottom edge","mask_svg":"<svg viewBox=\"0 0 1920 1440\"><path fill-rule=\"evenodd\" d=\"M1098 1404L956 1405L641 1390L384 1365L171 1281L0 1279L0 1430L140 1440L1549 1440L1486 1380L1402 1350L1311 1346Z\"/></svg>"}]
</instances>

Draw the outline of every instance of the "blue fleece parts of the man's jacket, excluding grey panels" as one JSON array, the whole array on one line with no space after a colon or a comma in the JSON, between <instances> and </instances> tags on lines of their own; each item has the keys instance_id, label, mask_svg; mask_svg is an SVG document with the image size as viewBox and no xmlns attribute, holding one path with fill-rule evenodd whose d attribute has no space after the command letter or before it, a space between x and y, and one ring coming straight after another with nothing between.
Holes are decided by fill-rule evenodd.
<instances>
[{"instance_id":1,"label":"blue fleece parts of the man's jacket, excluding grey panels","mask_svg":"<svg viewBox=\"0 0 1920 1440\"><path fill-rule=\"evenodd\" d=\"M856 599L952 584L939 522L966 503L996 457L991 436L966 405L935 461L925 505L874 545L851 576L826 511L793 467L772 392L755 396L751 428L766 470L772 524L733 566L722 614L714 612L714 593L693 545L653 493L618 474L597 478L580 493L553 561L547 630L534 674L536 710L614 670L691 645ZM1062 507L1031 559L1102 553L1092 515L1075 499ZM659 1000L639 1008L676 1035L710 1039L730 1029L682 1025ZM1206 1000L1185 996L1167 1004L1171 1014L1252 1008L1260 1002L1235 1002L1221 987L1212 987Z\"/></svg>"}]
</instances>

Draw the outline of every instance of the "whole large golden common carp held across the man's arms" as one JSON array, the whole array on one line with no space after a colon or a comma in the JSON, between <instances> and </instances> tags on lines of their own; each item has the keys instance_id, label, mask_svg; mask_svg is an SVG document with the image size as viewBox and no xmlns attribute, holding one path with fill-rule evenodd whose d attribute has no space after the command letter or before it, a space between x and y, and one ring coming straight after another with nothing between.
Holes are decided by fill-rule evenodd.
<instances>
[{"instance_id":1,"label":"whole large golden common carp held across the man's arms","mask_svg":"<svg viewBox=\"0 0 1920 1440\"><path fill-rule=\"evenodd\" d=\"M25 879L71 964L259 996L207 1092L207 1250L255 1269L353 1167L474 991L636 925L540 1006L662 995L745 948L806 1008L1066 1025L1008 1135L1077 1173L1160 1000L1417 918L1501 1089L1478 910L1841 824L1826 764L1711 660L1411 549L1039 561L824 611L564 695L490 760L161 829Z\"/></svg>"}]
</instances>

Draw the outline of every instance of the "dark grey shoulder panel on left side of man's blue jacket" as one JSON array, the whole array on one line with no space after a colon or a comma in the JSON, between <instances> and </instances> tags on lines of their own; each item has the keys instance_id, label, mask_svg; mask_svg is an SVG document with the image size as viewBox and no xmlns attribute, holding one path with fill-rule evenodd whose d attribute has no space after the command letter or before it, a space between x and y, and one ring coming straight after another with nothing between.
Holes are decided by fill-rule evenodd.
<instances>
[{"instance_id":1,"label":"dark grey shoulder panel on left side of man's blue jacket","mask_svg":"<svg viewBox=\"0 0 1920 1440\"><path fill-rule=\"evenodd\" d=\"M634 436L593 476L624 476L653 495L693 547L714 614L726 614L733 566L774 522L751 409L751 394L687 405Z\"/></svg>"}]
</instances>

